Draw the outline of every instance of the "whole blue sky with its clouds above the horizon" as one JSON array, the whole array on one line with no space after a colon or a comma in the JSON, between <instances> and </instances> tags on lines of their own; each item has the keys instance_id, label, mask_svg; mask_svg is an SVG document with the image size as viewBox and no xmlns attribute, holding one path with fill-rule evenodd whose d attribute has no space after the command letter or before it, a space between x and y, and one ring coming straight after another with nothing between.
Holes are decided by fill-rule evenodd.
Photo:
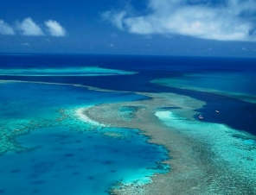
<instances>
[{"instance_id":1,"label":"whole blue sky with its clouds above the horizon","mask_svg":"<svg viewBox=\"0 0 256 195\"><path fill-rule=\"evenodd\" d=\"M0 53L256 57L256 1L9 0Z\"/></svg>"}]
</instances>

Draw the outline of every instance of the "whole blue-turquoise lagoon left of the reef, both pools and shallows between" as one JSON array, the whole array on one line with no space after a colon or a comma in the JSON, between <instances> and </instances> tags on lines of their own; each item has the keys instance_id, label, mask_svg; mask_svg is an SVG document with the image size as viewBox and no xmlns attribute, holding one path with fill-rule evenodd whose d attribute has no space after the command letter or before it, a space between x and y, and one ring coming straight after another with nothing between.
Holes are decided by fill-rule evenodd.
<instances>
[{"instance_id":1,"label":"whole blue-turquoise lagoon left of the reef, both pools and shallows between","mask_svg":"<svg viewBox=\"0 0 256 195\"><path fill-rule=\"evenodd\" d=\"M157 164L167 150L138 130L102 128L77 114L143 96L73 85L0 86L0 193L106 194L117 182L141 185L169 170Z\"/></svg>"}]
</instances>

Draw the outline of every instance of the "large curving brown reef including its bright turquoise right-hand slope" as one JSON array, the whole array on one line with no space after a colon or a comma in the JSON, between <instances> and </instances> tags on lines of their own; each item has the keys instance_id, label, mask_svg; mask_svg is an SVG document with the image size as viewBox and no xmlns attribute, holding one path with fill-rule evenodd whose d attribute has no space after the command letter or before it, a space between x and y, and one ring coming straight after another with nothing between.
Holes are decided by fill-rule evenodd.
<instances>
[{"instance_id":1,"label":"large curving brown reef including its bright turquoise right-hand slope","mask_svg":"<svg viewBox=\"0 0 256 195\"><path fill-rule=\"evenodd\" d=\"M149 142L170 151L163 163L171 170L155 174L144 186L120 184L112 194L256 194L253 135L195 118L202 101L172 93L139 94L152 99L100 104L84 114L109 127L140 129ZM129 120L122 116L127 109Z\"/></svg>"}]
</instances>

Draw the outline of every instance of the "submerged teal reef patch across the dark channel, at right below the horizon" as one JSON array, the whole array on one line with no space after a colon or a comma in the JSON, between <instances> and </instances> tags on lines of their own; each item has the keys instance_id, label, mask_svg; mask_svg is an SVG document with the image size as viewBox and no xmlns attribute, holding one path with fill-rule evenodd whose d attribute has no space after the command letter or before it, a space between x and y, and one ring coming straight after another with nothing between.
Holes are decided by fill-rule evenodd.
<instances>
[{"instance_id":1,"label":"submerged teal reef patch across the dark channel, at right below the horizon","mask_svg":"<svg viewBox=\"0 0 256 195\"><path fill-rule=\"evenodd\" d=\"M223 74L223 73L222 73ZM237 91L239 88L235 88L232 85L247 85L248 79L245 77L238 77L238 75L222 75L221 73L208 73L208 74L186 74L182 78L166 78L166 79L154 79L151 81L153 84L175 87L178 89L192 90L192 91L201 91L208 92L212 94L217 94L226 97L232 97L245 101L248 103L256 103L255 92L252 91ZM224 82L223 80L227 79L232 80L230 82ZM234 77L234 78L233 78ZM252 76L251 76L252 77ZM253 76L253 78L255 75ZM253 79L251 79L253 80ZM205 85L205 84L208 85ZM209 87L211 86L211 88ZM255 82L250 82L252 89L255 89ZM230 90L233 89L234 91Z\"/></svg>"}]
</instances>

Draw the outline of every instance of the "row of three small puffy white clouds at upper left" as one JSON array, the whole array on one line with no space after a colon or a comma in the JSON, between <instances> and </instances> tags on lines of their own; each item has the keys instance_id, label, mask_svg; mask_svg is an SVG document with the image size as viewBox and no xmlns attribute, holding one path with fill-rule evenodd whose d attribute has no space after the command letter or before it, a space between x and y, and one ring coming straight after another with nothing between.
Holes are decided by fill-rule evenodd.
<instances>
[{"instance_id":1,"label":"row of three small puffy white clouds at upper left","mask_svg":"<svg viewBox=\"0 0 256 195\"><path fill-rule=\"evenodd\" d=\"M0 35L24 35L24 36L43 36L51 35L56 37L66 36L67 31L59 22L48 20L44 25L36 24L32 18L28 17L17 21L14 27L0 20Z\"/></svg>"}]
</instances>

